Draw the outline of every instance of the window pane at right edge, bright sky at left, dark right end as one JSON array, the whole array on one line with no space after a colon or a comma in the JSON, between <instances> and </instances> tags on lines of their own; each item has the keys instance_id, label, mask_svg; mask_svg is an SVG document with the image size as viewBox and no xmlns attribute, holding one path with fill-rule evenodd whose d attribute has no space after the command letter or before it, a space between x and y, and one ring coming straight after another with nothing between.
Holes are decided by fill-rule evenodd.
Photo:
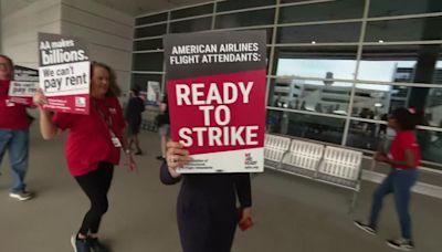
<instances>
[{"instance_id":1,"label":"window pane at right edge, bright sky at left, dark right end","mask_svg":"<svg viewBox=\"0 0 442 252\"><path fill-rule=\"evenodd\" d=\"M442 83L441 45L365 46L358 80Z\"/></svg>"}]
</instances>

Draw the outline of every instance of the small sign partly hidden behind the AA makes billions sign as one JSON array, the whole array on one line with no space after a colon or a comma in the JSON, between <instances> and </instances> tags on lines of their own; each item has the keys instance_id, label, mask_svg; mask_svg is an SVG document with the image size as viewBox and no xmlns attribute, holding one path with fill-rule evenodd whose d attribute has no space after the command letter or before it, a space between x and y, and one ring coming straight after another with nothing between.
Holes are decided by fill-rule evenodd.
<instances>
[{"instance_id":1,"label":"small sign partly hidden behind the AA makes billions sign","mask_svg":"<svg viewBox=\"0 0 442 252\"><path fill-rule=\"evenodd\" d=\"M9 87L8 96L13 103L31 105L39 86L39 71L21 65L14 66L14 77Z\"/></svg>"}]
</instances>

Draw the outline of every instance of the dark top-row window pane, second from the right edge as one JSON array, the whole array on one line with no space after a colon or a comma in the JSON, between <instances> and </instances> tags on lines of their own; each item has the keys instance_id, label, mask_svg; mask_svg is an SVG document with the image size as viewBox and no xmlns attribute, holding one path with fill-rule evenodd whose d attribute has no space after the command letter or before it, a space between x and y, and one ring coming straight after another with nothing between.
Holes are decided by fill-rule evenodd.
<instances>
[{"instance_id":1,"label":"dark top-row window pane, second from the right edge","mask_svg":"<svg viewBox=\"0 0 442 252\"><path fill-rule=\"evenodd\" d=\"M280 10L280 23L360 19L364 4L361 0L338 0L283 7Z\"/></svg>"}]
</instances>

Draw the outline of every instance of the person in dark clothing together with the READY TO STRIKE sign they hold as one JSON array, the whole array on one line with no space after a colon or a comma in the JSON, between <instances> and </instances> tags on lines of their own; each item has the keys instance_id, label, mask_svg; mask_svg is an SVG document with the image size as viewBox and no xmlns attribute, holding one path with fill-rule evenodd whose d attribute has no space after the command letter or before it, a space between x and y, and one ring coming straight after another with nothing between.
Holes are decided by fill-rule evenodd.
<instances>
[{"instance_id":1,"label":"person in dark clothing together with the READY TO STRIKE sign they hold","mask_svg":"<svg viewBox=\"0 0 442 252\"><path fill-rule=\"evenodd\" d=\"M249 174L264 170L265 41L265 31L164 38L172 141L160 177L182 180L185 252L229 252L236 225L253 224Z\"/></svg>"}]
</instances>

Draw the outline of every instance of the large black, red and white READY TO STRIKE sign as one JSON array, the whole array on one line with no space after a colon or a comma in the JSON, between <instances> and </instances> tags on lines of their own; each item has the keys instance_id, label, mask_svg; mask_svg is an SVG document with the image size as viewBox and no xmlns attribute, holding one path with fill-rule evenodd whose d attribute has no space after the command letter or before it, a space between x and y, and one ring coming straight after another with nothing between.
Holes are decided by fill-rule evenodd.
<instances>
[{"instance_id":1,"label":"large black, red and white READY TO STRIKE sign","mask_svg":"<svg viewBox=\"0 0 442 252\"><path fill-rule=\"evenodd\" d=\"M260 172L264 162L265 31L166 35L171 137L179 172Z\"/></svg>"}]
</instances>

